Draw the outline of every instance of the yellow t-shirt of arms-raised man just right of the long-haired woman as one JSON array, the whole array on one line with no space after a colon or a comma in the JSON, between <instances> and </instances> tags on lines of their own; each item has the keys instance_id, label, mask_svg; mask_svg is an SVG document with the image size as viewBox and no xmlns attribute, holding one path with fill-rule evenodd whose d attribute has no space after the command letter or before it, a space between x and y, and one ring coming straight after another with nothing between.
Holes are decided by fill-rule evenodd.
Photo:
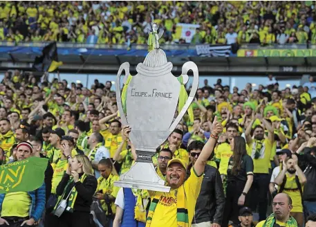
<instances>
[{"instance_id":1,"label":"yellow t-shirt of arms-raised man just right of the long-haired woman","mask_svg":"<svg viewBox=\"0 0 316 227\"><path fill-rule=\"evenodd\" d=\"M257 141L258 142L258 141ZM256 142L252 140L252 143L247 147L247 153L252 157L254 161L254 174L268 174L270 167L270 155L273 144L266 138L263 140L259 158L254 158L256 152Z\"/></svg>"}]
</instances>

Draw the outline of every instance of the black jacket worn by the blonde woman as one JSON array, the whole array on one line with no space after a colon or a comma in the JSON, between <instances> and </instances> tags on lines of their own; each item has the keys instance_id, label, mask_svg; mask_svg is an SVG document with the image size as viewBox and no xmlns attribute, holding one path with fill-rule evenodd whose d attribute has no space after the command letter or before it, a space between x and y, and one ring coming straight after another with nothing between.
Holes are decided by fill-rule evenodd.
<instances>
[{"instance_id":1,"label":"black jacket worn by the blonde woman","mask_svg":"<svg viewBox=\"0 0 316 227\"><path fill-rule=\"evenodd\" d=\"M82 174L79 174L79 176L82 176ZM64 192L69 179L70 176L65 173L62 177L62 181L60 181L59 185L57 186L57 196L62 195L62 192ZM86 179L84 179L83 183L81 183L80 181L78 181L77 183L71 183L66 189L65 197L68 196L70 190L73 188L74 185L78 194L73 206L73 210L90 212L91 203L93 201L93 194L95 194L95 190L97 190L97 179L95 179L95 176L88 175L86 176Z\"/></svg>"}]
</instances>

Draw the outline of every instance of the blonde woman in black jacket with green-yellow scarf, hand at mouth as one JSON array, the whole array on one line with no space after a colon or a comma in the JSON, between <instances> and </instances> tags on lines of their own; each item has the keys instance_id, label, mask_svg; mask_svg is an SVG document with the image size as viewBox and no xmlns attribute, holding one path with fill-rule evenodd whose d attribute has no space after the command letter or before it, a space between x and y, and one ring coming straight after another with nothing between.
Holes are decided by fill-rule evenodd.
<instances>
[{"instance_id":1,"label":"blonde woman in black jacket with green-yellow scarf, hand at mouth","mask_svg":"<svg viewBox=\"0 0 316 227\"><path fill-rule=\"evenodd\" d=\"M89 158L76 155L69 158L69 169L57 186L56 194L59 201L53 210L60 207L62 200L66 200L66 208L62 215L55 216L49 226L86 227L90 226L90 207L93 194L97 189L97 179L93 176Z\"/></svg>"}]
</instances>

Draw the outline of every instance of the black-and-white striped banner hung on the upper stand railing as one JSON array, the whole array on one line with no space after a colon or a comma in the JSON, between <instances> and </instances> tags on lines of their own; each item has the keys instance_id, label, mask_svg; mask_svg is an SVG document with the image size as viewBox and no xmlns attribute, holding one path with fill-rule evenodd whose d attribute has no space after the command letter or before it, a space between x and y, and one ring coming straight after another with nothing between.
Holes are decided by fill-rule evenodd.
<instances>
[{"instance_id":1,"label":"black-and-white striped banner hung on the upper stand railing","mask_svg":"<svg viewBox=\"0 0 316 227\"><path fill-rule=\"evenodd\" d=\"M230 45L196 45L196 53L200 57L229 57Z\"/></svg>"}]
</instances>

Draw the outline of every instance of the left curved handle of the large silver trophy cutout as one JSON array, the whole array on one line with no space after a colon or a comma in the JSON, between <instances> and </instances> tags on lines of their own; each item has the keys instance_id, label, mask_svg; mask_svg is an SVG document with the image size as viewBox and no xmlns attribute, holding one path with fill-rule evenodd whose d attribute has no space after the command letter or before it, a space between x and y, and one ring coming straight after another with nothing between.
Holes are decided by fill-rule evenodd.
<instances>
[{"instance_id":1,"label":"left curved handle of the large silver trophy cutout","mask_svg":"<svg viewBox=\"0 0 316 227\"><path fill-rule=\"evenodd\" d=\"M120 78L121 78L123 70L125 71L125 76L124 76L124 84L125 84L125 82L127 82L127 78L129 78L129 62L124 62L123 64L121 64L120 69L118 70L118 75L116 76L116 103L118 104L118 111L120 111L122 125L128 125L127 118L123 111L121 88L120 88Z\"/></svg>"}]
</instances>

